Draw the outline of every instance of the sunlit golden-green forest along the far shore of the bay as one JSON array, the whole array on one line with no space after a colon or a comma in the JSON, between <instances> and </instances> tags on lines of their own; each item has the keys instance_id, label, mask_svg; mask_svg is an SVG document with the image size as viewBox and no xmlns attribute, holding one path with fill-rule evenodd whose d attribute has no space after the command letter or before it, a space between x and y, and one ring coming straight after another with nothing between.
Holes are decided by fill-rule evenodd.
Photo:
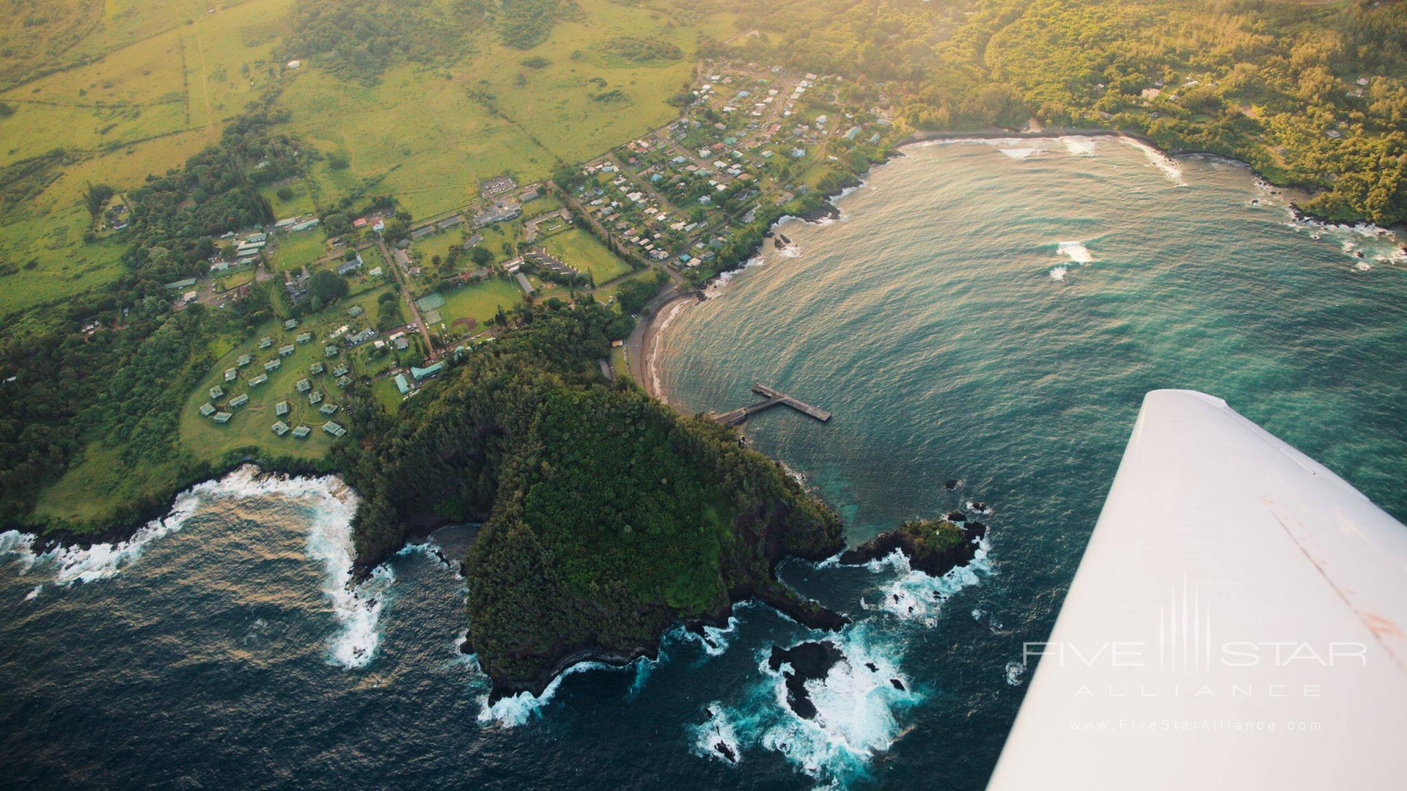
<instances>
[{"instance_id":1,"label":"sunlit golden-green forest along the far shore of the bay","mask_svg":"<svg viewBox=\"0 0 1407 791\"><path fill-rule=\"evenodd\" d=\"M1263 0L678 0L746 11L737 53L851 79L900 129L1119 128L1407 221L1407 7Z\"/></svg>"}]
</instances>

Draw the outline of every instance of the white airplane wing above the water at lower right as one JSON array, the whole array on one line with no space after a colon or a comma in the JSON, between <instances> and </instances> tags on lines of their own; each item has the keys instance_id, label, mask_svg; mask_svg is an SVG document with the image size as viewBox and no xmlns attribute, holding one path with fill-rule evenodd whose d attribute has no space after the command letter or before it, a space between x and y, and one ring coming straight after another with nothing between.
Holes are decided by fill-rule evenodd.
<instances>
[{"instance_id":1,"label":"white airplane wing above the water at lower right","mask_svg":"<svg viewBox=\"0 0 1407 791\"><path fill-rule=\"evenodd\" d=\"M1407 528L1148 393L988 788L1407 788L1404 632Z\"/></svg>"}]
</instances>

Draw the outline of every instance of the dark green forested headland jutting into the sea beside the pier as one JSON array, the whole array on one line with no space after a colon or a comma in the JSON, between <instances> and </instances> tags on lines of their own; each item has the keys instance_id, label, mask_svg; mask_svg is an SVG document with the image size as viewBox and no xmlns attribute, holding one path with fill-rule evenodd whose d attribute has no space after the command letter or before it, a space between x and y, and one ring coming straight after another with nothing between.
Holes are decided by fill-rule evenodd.
<instances>
[{"instance_id":1,"label":"dark green forested headland jutting into the sea beside the pier","mask_svg":"<svg viewBox=\"0 0 1407 791\"><path fill-rule=\"evenodd\" d=\"M597 360L628 318L559 304L521 321L394 422L355 400L353 442L336 455L366 497L362 563L395 550L407 522L483 521L469 639L498 691L540 691L587 653L649 652L674 621L716 622L743 597L834 622L771 574L784 555L843 546L825 505L730 431L608 383Z\"/></svg>"}]
</instances>

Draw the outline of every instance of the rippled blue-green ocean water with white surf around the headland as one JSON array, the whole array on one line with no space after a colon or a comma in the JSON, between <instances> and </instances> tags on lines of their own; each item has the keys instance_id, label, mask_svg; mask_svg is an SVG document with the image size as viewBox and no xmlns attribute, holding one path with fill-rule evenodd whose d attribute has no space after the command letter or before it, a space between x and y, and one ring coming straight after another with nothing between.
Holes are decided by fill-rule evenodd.
<instances>
[{"instance_id":1,"label":"rippled blue-green ocean water with white surf around the headland","mask_svg":"<svg viewBox=\"0 0 1407 791\"><path fill-rule=\"evenodd\" d=\"M432 552L461 556L471 529L349 590L356 495L243 469L121 546L35 556L0 533L6 784L981 788L1144 391L1220 396L1407 518L1407 272L1389 239L1292 222L1286 200L1113 139L913 146L674 318L681 408L763 380L834 412L746 434L853 543L991 510L944 578L782 566L855 621L813 721L767 656L822 635L761 605L488 707L457 653L463 580Z\"/></svg>"}]
</instances>

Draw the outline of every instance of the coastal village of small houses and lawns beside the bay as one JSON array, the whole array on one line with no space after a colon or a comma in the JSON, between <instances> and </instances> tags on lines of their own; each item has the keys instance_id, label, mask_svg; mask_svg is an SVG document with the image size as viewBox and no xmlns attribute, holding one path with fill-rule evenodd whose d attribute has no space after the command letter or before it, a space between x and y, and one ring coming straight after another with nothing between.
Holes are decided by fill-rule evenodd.
<instances>
[{"instance_id":1,"label":"coastal village of small houses and lawns beside the bay","mask_svg":"<svg viewBox=\"0 0 1407 791\"><path fill-rule=\"evenodd\" d=\"M847 106L844 89L837 76L704 61L675 121L553 179L501 173L454 211L411 222L384 205L332 238L303 215L227 234L204 277L167 284L179 307L228 307L274 281L274 314L293 318L225 355L190 400L190 431L228 434L208 439L231 448L267 432L321 455L348 431L338 398L352 377L394 414L447 355L491 342L528 303L699 290L753 253L749 231L882 158L886 111ZM602 367L626 374L625 349Z\"/></svg>"}]
</instances>

